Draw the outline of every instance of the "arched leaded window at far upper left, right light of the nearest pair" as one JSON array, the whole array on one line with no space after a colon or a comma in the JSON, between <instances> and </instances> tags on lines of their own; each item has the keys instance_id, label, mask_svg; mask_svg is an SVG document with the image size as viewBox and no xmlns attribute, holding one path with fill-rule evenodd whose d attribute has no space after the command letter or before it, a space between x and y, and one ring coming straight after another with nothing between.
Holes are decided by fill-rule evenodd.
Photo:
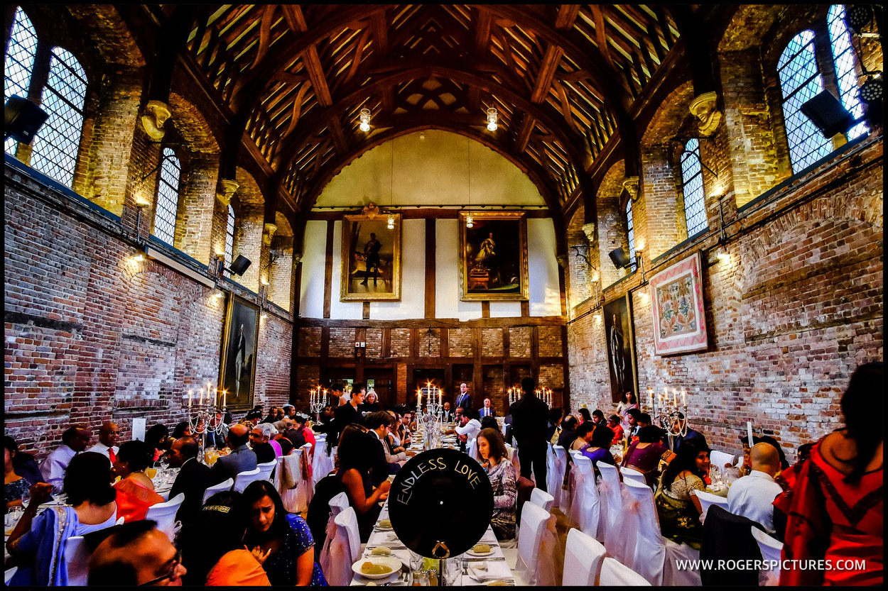
<instances>
[{"instance_id":1,"label":"arched leaded window at far upper left, right light of the nearest pair","mask_svg":"<svg viewBox=\"0 0 888 591\"><path fill-rule=\"evenodd\" d=\"M34 138L31 166L62 185L74 181L85 99L86 73L80 62L69 51L53 47L41 103L49 118Z\"/></svg>"}]
</instances>

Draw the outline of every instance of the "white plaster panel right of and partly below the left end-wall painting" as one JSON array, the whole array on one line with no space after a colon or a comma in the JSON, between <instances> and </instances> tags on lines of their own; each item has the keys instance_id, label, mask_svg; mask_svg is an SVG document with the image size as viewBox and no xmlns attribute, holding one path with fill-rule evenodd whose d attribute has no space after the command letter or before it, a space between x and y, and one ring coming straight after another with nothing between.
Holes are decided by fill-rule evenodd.
<instances>
[{"instance_id":1,"label":"white plaster panel right of and partly below the left end-wall painting","mask_svg":"<svg viewBox=\"0 0 888 591\"><path fill-rule=\"evenodd\" d=\"M371 319L425 317L425 220L405 219L400 240L400 302L370 302Z\"/></svg>"}]
</instances>

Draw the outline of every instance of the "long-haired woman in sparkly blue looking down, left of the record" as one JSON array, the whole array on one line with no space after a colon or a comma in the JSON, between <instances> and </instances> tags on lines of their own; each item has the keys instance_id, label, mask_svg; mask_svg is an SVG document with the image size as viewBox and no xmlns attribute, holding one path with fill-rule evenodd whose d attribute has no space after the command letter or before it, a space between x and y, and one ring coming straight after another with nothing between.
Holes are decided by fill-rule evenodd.
<instances>
[{"instance_id":1,"label":"long-haired woman in sparkly blue looking down, left of the record","mask_svg":"<svg viewBox=\"0 0 888 591\"><path fill-rule=\"evenodd\" d=\"M281 495L267 480L257 480L243 491L250 521L243 543L262 563L272 585L327 586L314 562L314 540L305 519L288 513Z\"/></svg>"}]
</instances>

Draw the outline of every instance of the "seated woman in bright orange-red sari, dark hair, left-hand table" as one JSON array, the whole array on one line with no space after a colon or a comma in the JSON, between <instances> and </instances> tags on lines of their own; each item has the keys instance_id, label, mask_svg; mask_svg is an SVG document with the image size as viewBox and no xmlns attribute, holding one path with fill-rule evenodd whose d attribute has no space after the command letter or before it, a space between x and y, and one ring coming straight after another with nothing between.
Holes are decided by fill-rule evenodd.
<instances>
[{"instance_id":1,"label":"seated woman in bright orange-red sari, dark hair, left-hand table","mask_svg":"<svg viewBox=\"0 0 888 591\"><path fill-rule=\"evenodd\" d=\"M155 493L155 485L145 475L151 465L154 450L144 441L127 441L120 446L114 462L114 473L120 480L114 485L117 491L117 516L123 521L145 519L152 505L163 502L163 497Z\"/></svg>"}]
</instances>

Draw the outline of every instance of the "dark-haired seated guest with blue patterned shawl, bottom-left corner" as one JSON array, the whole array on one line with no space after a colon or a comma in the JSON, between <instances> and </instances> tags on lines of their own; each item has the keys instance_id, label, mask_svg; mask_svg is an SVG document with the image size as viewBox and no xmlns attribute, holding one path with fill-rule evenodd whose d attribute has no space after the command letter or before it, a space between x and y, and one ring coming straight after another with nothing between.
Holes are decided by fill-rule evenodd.
<instances>
[{"instance_id":1,"label":"dark-haired seated guest with blue patterned shawl, bottom-left corner","mask_svg":"<svg viewBox=\"0 0 888 591\"><path fill-rule=\"evenodd\" d=\"M62 490L69 504L47 508L36 516L38 506L50 498L52 486L31 487L28 507L6 541L6 549L19 563L10 586L67 586L65 541L110 527L117 520L111 464L101 453L75 455L67 465Z\"/></svg>"}]
</instances>

